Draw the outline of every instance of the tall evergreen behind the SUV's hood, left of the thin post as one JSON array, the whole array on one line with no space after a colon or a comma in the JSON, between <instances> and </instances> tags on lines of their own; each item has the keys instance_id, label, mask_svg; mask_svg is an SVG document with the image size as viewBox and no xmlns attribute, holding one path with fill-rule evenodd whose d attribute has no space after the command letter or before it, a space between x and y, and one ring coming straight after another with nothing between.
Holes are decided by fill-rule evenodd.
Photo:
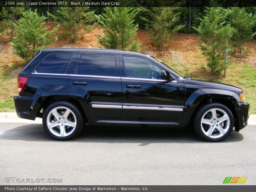
<instances>
[{"instance_id":1,"label":"tall evergreen behind the SUV's hood, left of the thin post","mask_svg":"<svg viewBox=\"0 0 256 192\"><path fill-rule=\"evenodd\" d=\"M227 24L229 12L222 7L207 7L206 15L201 18L201 23L196 31L201 35L200 49L206 60L211 74L221 73L226 68L224 53L226 43L233 34L233 28Z\"/></svg>"}]
</instances>

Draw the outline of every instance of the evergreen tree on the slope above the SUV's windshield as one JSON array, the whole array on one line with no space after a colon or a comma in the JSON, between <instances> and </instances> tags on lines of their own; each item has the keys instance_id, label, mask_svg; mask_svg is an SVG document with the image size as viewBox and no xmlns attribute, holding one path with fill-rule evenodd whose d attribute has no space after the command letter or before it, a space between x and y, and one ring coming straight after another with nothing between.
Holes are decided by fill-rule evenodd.
<instances>
[{"instance_id":1,"label":"evergreen tree on the slope above the SUV's windshield","mask_svg":"<svg viewBox=\"0 0 256 192\"><path fill-rule=\"evenodd\" d=\"M156 43L158 51L162 51L171 35L184 27L176 25L180 19L180 12L175 12L177 9L178 7L152 7L149 11L152 19L142 18L147 21L146 29L150 30L148 35Z\"/></svg>"}]
</instances>

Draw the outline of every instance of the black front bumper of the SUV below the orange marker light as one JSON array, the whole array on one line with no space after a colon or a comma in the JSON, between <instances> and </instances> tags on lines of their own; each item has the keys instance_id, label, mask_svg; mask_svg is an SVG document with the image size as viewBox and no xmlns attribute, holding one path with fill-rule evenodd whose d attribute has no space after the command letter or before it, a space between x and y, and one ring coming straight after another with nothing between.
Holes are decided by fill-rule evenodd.
<instances>
[{"instance_id":1,"label":"black front bumper of the SUV below the orange marker light","mask_svg":"<svg viewBox=\"0 0 256 192\"><path fill-rule=\"evenodd\" d=\"M237 119L235 121L235 130L239 131L246 127L249 119L249 109L250 105L245 102L234 102L233 103L236 109Z\"/></svg>"}]
</instances>

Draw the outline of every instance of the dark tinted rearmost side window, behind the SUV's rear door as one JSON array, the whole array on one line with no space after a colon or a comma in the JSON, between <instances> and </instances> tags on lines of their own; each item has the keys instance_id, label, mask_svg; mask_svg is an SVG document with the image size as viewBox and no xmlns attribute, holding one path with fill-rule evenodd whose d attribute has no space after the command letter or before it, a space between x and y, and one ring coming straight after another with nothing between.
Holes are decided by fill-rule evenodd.
<instances>
[{"instance_id":1,"label":"dark tinted rearmost side window, behind the SUV's rear door","mask_svg":"<svg viewBox=\"0 0 256 192\"><path fill-rule=\"evenodd\" d=\"M64 74L72 54L51 54L48 55L36 68L36 73L57 73Z\"/></svg>"}]
</instances>

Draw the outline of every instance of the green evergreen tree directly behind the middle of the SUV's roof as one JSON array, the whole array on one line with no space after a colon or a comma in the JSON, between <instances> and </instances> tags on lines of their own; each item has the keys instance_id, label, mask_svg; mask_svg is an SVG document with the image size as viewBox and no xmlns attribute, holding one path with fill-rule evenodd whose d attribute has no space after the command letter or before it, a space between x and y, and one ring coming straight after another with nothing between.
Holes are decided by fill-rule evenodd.
<instances>
[{"instance_id":1,"label":"green evergreen tree directly behind the middle of the SUV's roof","mask_svg":"<svg viewBox=\"0 0 256 192\"><path fill-rule=\"evenodd\" d=\"M139 40L133 40L138 30L134 18L139 11L134 7L105 7L104 13L97 16L104 33L97 36L99 44L107 49L139 51Z\"/></svg>"}]
</instances>

